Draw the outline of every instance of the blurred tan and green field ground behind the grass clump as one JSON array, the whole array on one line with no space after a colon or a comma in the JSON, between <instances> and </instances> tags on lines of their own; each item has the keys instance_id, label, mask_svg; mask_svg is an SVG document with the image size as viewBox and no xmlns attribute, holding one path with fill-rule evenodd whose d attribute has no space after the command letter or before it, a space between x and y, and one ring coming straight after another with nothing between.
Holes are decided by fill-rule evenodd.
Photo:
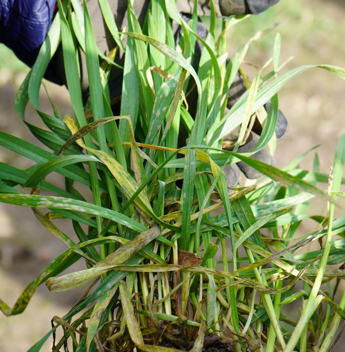
<instances>
[{"instance_id":1,"label":"blurred tan and green field ground behind the grass clump","mask_svg":"<svg viewBox=\"0 0 345 352\"><path fill-rule=\"evenodd\" d=\"M281 0L265 13L252 16L230 30L229 55L257 31L269 28L276 22L280 24L272 33L251 45L245 59L247 63L256 66L264 64L271 56L275 34L280 32L281 62L294 56L282 72L305 64L345 66L345 1L342 0ZM41 145L14 110L14 97L28 68L2 44L0 57L0 129ZM253 78L253 66L243 65L242 68ZM61 115L72 113L66 88L49 82L47 88ZM316 150L320 158L320 171L328 173L338 139L345 133L344 93L344 81L320 69L306 71L281 89L279 107L288 118L290 127L288 135L277 144L277 166L287 164L307 149L321 143ZM41 109L51 112L44 91ZM29 106L26 113L28 121L43 127L33 108ZM312 168L313 157L312 152L301 163L302 168ZM18 168L31 165L28 160L2 147L0 161ZM340 201L345 207L344 199ZM338 215L343 209L337 210ZM326 214L326 203L313 201L309 212ZM69 224L60 220L59 226L69 233ZM315 223L306 221L301 232L307 233L314 226ZM314 245L308 245L307 250L311 250ZM25 286L64 249L64 245L36 221L30 208L0 203L0 298L12 306ZM84 268L80 262L73 269L78 269L78 265L80 269ZM339 290L340 293L343 290L344 285ZM52 294L43 285L23 314L9 319L0 315L0 352L26 351L50 329L51 318L66 314L81 294L82 289L67 294ZM296 312L296 316L298 314ZM344 347L344 344L339 341L336 350L341 351L341 346ZM51 340L48 340L42 351L51 351Z\"/></svg>"}]
</instances>

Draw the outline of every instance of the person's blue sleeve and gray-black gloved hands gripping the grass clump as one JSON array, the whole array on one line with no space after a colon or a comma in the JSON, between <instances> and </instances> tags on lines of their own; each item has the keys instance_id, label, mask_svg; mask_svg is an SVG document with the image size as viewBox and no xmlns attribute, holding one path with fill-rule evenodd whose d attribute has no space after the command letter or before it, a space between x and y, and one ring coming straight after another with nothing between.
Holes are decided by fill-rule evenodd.
<instances>
[{"instance_id":1,"label":"person's blue sleeve and gray-black gloved hands gripping the grass clump","mask_svg":"<svg viewBox=\"0 0 345 352\"><path fill-rule=\"evenodd\" d=\"M257 14L275 5L279 0L219 0L214 2L215 11L217 16L228 16L231 14ZM45 39L48 30L50 28L51 22L53 20L53 15L55 12L55 0L18 0L18 1L7 1L0 0L0 42L5 43L9 48L11 48L14 53L25 63L32 66L37 57L39 48ZM96 37L97 46L101 52L109 52L114 46L113 41L109 31L107 30L106 24L103 20L103 15L100 11L100 7L97 0L89 0L87 2L88 11L92 20L92 25ZM120 6L119 0L110 0L110 8L112 12L116 15L116 24L121 30L123 27L128 28L127 23L127 5L122 4ZM150 6L149 0L136 0L134 2L134 11L138 16L138 21L142 25L148 7ZM178 11L186 15L191 14L193 11L194 3L192 0L177 0L176 3ZM205 0L198 5L198 15L207 16L210 15L210 1ZM188 18L187 18L188 19ZM30 26L28 25L30 23ZM206 38L207 31L205 26L201 21L198 22L197 28L198 34L202 38ZM181 30L177 28L175 38L179 39ZM193 66L197 70L198 62L200 59L202 50L202 44L197 40L195 48L195 57ZM119 53L115 61L118 64L123 64L123 53ZM88 78L86 70L86 60L84 53L80 50L80 69L81 69L81 87L83 91L84 100L86 101L88 95ZM123 71L113 68L111 71L111 76L109 80L109 90L111 98L115 98L121 95L122 90L122 75ZM59 83L66 84L66 77L64 73L64 64L61 46L58 48L56 54L51 60L45 78ZM192 82L193 80L191 80ZM228 107L231 107L235 101L245 90L244 83L241 81L241 77L238 76L232 87L229 90ZM190 102L190 112L193 115L192 102L197 101L195 96L195 90L192 90L188 97ZM118 104L119 105L119 104ZM265 106L266 109L268 106ZM119 106L118 106L119 108ZM114 108L114 113L116 112L116 107ZM115 113L117 114L117 113ZM247 143L241 146L239 152L250 151L256 144L258 138L257 133L261 133L261 126L254 124L253 132L249 136ZM279 113L278 126L276 130L277 138L282 138L287 129L287 121L283 114ZM186 135L184 136L183 128L181 128L179 136L179 144L185 145ZM224 139L226 140L226 139ZM252 157L259 158L263 161L268 161L273 163L273 158L268 155L266 150L255 153ZM248 178L256 178L258 173L248 168L243 163L238 163L239 167L245 173ZM227 179L230 184L237 184L239 171L236 169L236 165L226 166Z\"/></svg>"}]
</instances>

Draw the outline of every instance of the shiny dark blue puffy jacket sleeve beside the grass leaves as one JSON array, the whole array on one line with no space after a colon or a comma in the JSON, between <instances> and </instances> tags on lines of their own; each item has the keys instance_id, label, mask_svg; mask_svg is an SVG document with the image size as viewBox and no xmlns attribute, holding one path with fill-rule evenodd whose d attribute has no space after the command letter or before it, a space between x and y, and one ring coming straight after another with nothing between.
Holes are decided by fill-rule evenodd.
<instances>
[{"instance_id":1,"label":"shiny dark blue puffy jacket sleeve beside the grass leaves","mask_svg":"<svg viewBox=\"0 0 345 352\"><path fill-rule=\"evenodd\" d=\"M53 21L55 4L56 0L0 0L0 42L30 67ZM46 78L56 81L49 71Z\"/></svg>"}]
</instances>

